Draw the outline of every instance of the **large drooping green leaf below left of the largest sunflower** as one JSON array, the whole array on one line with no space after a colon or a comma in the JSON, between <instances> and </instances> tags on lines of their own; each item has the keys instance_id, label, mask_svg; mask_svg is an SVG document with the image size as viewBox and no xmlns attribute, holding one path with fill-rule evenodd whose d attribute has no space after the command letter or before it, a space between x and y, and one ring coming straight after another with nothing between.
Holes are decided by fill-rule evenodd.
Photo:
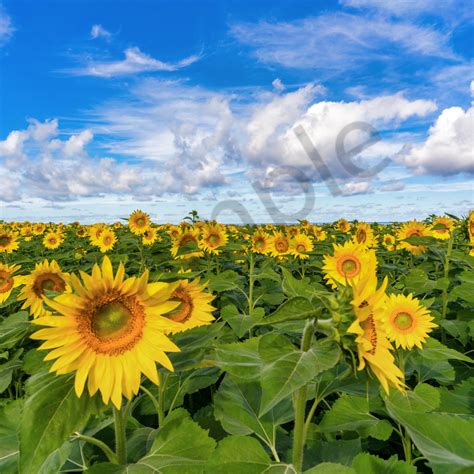
<instances>
[{"instance_id":1,"label":"large drooping green leaf below left of the largest sunflower","mask_svg":"<svg viewBox=\"0 0 474 474\"><path fill-rule=\"evenodd\" d=\"M20 467L23 474L39 467L69 436L82 429L102 406L98 397L77 398L73 376L39 373L27 384L20 420Z\"/></svg>"}]
</instances>

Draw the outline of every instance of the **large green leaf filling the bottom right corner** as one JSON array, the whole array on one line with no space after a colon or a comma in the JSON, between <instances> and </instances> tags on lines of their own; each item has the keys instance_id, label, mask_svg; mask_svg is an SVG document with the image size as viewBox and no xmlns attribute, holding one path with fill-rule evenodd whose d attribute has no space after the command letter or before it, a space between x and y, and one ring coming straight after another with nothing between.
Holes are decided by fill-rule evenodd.
<instances>
[{"instance_id":1,"label":"large green leaf filling the bottom right corner","mask_svg":"<svg viewBox=\"0 0 474 474\"><path fill-rule=\"evenodd\" d=\"M421 413L385 402L390 416L404 426L434 472L451 473L461 468L474 470L474 419L456 415Z\"/></svg>"}]
</instances>

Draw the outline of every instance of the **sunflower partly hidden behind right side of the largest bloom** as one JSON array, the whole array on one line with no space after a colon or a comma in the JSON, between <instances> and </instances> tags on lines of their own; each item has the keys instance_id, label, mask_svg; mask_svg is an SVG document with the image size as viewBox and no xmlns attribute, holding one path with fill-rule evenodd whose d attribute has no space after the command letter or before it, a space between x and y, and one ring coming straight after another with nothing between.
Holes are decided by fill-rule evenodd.
<instances>
[{"instance_id":1,"label":"sunflower partly hidden behind right side of the largest bloom","mask_svg":"<svg viewBox=\"0 0 474 474\"><path fill-rule=\"evenodd\" d=\"M204 291L205 285L199 284L199 278L192 282L181 280L173 291L171 299L179 302L179 306L165 314L167 318L178 324L171 327L171 333L210 324L214 321L212 312L216 309L211 305L214 297Z\"/></svg>"}]
</instances>

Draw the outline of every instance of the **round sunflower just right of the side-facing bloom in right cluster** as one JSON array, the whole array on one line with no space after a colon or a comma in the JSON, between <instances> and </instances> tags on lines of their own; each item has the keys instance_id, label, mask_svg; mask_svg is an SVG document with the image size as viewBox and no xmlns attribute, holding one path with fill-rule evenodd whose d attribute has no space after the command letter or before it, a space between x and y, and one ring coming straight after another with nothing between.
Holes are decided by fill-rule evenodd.
<instances>
[{"instance_id":1,"label":"round sunflower just right of the side-facing bloom in right cluster","mask_svg":"<svg viewBox=\"0 0 474 474\"><path fill-rule=\"evenodd\" d=\"M428 338L437 324L433 323L429 311L410 294L390 295L387 298L383 311L383 322L390 341L397 347L411 349Z\"/></svg>"}]
</instances>

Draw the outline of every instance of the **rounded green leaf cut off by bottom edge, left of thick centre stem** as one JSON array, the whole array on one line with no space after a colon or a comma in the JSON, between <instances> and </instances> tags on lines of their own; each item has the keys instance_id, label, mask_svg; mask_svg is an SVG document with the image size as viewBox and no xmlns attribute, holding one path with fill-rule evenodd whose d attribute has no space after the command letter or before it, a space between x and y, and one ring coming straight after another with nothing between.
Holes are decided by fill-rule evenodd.
<instances>
[{"instance_id":1,"label":"rounded green leaf cut off by bottom edge, left of thick centre stem","mask_svg":"<svg viewBox=\"0 0 474 474\"><path fill-rule=\"evenodd\" d=\"M250 436L228 436L214 451L206 474L296 474L287 464L272 463L262 445Z\"/></svg>"}]
</instances>

